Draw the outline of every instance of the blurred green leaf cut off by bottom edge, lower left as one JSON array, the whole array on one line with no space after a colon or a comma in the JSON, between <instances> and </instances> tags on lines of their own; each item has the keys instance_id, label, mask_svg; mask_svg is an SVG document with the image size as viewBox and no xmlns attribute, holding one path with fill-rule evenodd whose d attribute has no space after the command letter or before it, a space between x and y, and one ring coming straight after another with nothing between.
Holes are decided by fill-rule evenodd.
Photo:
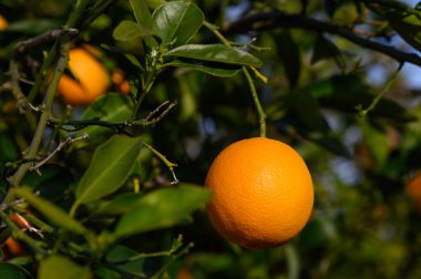
<instances>
[{"instance_id":1,"label":"blurred green leaf cut off by bottom edge, lower left","mask_svg":"<svg viewBox=\"0 0 421 279\"><path fill-rule=\"evenodd\" d=\"M66 257L53 255L40 262L39 279L90 279L91 271L86 266L80 266Z\"/></svg>"}]
</instances>

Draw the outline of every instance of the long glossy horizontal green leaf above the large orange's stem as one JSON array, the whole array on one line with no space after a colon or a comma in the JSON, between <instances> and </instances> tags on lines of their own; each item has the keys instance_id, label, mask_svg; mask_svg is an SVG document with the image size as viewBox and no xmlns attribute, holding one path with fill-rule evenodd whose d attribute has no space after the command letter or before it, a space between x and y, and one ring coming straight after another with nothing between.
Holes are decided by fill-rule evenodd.
<instances>
[{"instance_id":1,"label":"long glossy horizontal green leaf above the large orange's stem","mask_svg":"<svg viewBox=\"0 0 421 279\"><path fill-rule=\"evenodd\" d=\"M235 65L261 65L261 61L258 58L246 51L225 44L185 44L164 53L164 55Z\"/></svg>"}]
</instances>

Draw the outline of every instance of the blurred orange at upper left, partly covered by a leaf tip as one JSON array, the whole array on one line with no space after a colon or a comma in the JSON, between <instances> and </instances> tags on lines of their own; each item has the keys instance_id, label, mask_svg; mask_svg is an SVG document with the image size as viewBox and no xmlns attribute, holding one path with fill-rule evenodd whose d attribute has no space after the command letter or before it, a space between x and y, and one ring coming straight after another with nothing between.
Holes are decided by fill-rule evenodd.
<instances>
[{"instance_id":1,"label":"blurred orange at upper left, partly covered by a leaf tip","mask_svg":"<svg viewBox=\"0 0 421 279\"><path fill-rule=\"evenodd\" d=\"M60 80L58 91L71 105L89 105L106 93L110 76L105 66L91 52L82 48L69 53L69 68L79 81L68 74Z\"/></svg>"}]
</instances>

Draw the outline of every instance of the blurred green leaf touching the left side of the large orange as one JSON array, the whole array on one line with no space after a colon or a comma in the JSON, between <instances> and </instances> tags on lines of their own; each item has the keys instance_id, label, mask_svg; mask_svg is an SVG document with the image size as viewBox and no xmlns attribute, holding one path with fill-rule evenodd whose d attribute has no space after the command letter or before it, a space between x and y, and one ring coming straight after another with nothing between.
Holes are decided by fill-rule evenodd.
<instances>
[{"instance_id":1,"label":"blurred green leaf touching the left side of the large orange","mask_svg":"<svg viewBox=\"0 0 421 279\"><path fill-rule=\"evenodd\" d=\"M212 194L207 189L186 184L154 190L141 197L136 207L123 215L114 237L167 228L189 220L189 215L210 197Z\"/></svg>"}]
</instances>

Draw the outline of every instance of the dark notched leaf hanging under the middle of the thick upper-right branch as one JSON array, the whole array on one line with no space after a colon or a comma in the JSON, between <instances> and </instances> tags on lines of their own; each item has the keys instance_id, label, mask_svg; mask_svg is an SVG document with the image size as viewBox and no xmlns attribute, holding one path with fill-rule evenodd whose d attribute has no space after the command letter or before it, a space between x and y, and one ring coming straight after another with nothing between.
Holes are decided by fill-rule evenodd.
<instances>
[{"instance_id":1,"label":"dark notched leaf hanging under the middle of the thick upper-right branch","mask_svg":"<svg viewBox=\"0 0 421 279\"><path fill-rule=\"evenodd\" d=\"M316 64L317 62L327 59L333 59L340 69L346 68L345 59L338 46L324 35L319 34L312 51L311 64Z\"/></svg>"}]
</instances>

